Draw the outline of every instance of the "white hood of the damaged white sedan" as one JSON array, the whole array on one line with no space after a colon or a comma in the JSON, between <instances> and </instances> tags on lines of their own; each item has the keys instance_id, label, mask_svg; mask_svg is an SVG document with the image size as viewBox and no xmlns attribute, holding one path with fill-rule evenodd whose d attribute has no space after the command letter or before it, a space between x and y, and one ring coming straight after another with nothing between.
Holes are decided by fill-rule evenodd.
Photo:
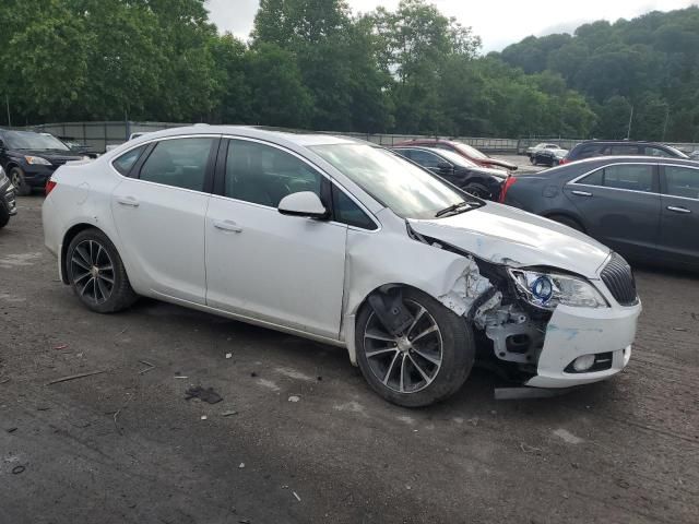
<instances>
[{"instance_id":1,"label":"white hood of the damaged white sedan","mask_svg":"<svg viewBox=\"0 0 699 524\"><path fill-rule=\"evenodd\" d=\"M518 267L549 266L596 278L609 249L556 222L487 203L458 215L408 219L411 227L474 257Z\"/></svg>"}]
</instances>

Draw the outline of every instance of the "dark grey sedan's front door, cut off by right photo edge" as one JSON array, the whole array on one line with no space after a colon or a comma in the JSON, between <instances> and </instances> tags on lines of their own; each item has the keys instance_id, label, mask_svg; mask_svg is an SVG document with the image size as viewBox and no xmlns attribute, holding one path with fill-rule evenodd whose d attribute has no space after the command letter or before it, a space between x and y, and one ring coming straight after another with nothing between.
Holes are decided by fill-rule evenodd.
<instances>
[{"instance_id":1,"label":"dark grey sedan's front door, cut off by right photo edge","mask_svg":"<svg viewBox=\"0 0 699 524\"><path fill-rule=\"evenodd\" d=\"M662 166L660 248L683 264L699 264L699 168Z\"/></svg>"}]
</instances>

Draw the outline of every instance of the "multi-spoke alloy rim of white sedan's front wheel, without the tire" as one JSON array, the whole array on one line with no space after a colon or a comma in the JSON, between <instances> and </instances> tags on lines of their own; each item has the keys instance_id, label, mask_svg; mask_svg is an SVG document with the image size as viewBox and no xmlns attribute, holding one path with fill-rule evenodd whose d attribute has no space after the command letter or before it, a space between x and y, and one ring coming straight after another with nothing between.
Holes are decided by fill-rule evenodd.
<instances>
[{"instance_id":1,"label":"multi-spoke alloy rim of white sedan's front wheel, without the tire","mask_svg":"<svg viewBox=\"0 0 699 524\"><path fill-rule=\"evenodd\" d=\"M439 325L419 303L406 300L413 324L400 336L387 332L371 312L364 332L365 356L374 376L398 393L417 393L431 384L443 358Z\"/></svg>"}]
</instances>

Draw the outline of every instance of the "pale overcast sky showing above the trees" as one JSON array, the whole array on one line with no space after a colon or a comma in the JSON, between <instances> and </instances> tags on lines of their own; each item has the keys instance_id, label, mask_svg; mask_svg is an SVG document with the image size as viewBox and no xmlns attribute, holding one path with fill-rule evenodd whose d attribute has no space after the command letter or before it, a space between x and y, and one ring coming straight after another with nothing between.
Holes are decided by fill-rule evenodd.
<instances>
[{"instance_id":1,"label":"pale overcast sky showing above the trees","mask_svg":"<svg viewBox=\"0 0 699 524\"><path fill-rule=\"evenodd\" d=\"M378 5L393 9L399 0L347 0L356 12ZM530 35L571 33L595 20L632 19L650 11L671 11L698 4L699 0L431 0L439 10L473 27L483 39L483 51L500 51ZM211 21L222 32L247 39L258 0L208 0Z\"/></svg>"}]
</instances>

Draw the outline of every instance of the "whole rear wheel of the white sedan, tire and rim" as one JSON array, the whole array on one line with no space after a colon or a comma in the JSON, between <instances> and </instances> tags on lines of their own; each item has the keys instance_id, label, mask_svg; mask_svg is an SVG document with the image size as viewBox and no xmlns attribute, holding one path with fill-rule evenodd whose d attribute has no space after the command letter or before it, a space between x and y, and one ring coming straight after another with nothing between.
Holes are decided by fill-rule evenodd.
<instances>
[{"instance_id":1,"label":"whole rear wheel of the white sedan, tire and rim","mask_svg":"<svg viewBox=\"0 0 699 524\"><path fill-rule=\"evenodd\" d=\"M75 296L97 313L121 311L138 299L117 248L98 229L75 235L66 252L66 271Z\"/></svg>"}]
</instances>

